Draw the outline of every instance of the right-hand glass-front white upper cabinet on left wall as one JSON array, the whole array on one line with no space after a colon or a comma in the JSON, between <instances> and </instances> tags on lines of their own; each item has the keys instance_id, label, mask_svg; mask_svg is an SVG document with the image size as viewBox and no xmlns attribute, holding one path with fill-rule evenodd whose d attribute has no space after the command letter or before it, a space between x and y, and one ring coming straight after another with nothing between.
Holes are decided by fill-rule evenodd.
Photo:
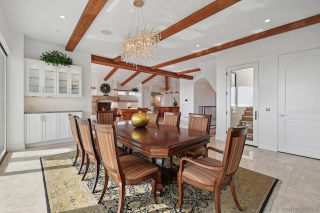
<instances>
[{"instance_id":1,"label":"right-hand glass-front white upper cabinet on left wall","mask_svg":"<svg viewBox=\"0 0 320 213\"><path fill-rule=\"evenodd\" d=\"M82 96L82 67L57 67L57 95Z\"/></svg>"}]
</instances>

